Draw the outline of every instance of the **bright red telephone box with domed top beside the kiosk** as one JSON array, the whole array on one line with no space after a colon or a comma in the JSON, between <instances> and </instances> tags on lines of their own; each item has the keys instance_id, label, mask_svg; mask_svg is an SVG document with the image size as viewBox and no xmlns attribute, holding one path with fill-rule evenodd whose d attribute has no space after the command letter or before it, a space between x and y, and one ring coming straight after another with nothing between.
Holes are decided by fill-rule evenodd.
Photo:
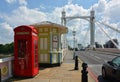
<instances>
[{"instance_id":1,"label":"bright red telephone box with domed top beside the kiosk","mask_svg":"<svg viewBox=\"0 0 120 82\"><path fill-rule=\"evenodd\" d=\"M14 75L33 77L39 72L38 32L34 26L22 25L14 33Z\"/></svg>"}]
</instances>

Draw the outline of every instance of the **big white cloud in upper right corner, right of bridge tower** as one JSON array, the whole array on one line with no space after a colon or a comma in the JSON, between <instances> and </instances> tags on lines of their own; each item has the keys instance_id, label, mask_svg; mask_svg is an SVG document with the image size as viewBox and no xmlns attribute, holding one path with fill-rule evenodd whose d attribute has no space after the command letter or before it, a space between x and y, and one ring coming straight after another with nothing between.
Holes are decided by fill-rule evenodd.
<instances>
[{"instance_id":1,"label":"big white cloud in upper right corner, right of bridge tower","mask_svg":"<svg viewBox=\"0 0 120 82\"><path fill-rule=\"evenodd\" d=\"M90 9L95 10L96 19L109 21L111 23L119 22L120 19L120 0L99 0Z\"/></svg>"}]
</instances>

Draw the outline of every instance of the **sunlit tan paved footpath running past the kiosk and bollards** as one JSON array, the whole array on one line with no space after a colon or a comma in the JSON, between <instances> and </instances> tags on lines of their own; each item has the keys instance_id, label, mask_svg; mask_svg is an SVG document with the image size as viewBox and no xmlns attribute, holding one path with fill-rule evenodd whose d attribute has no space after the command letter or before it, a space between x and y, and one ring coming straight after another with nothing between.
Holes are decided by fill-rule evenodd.
<instances>
[{"instance_id":1,"label":"sunlit tan paved footpath running past the kiosk and bollards","mask_svg":"<svg viewBox=\"0 0 120 82\"><path fill-rule=\"evenodd\" d=\"M39 74L33 78L12 78L12 82L82 82L81 67L79 60L79 70L74 70L75 61L73 52L68 51L61 66L40 68ZM88 71L88 82L96 82Z\"/></svg>"}]
</instances>

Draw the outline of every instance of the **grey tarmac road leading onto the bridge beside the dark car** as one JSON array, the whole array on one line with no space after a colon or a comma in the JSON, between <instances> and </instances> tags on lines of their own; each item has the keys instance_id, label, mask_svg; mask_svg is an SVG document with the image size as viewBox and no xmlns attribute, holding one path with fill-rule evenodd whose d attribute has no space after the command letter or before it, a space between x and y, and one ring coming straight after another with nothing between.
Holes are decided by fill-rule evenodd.
<instances>
[{"instance_id":1,"label":"grey tarmac road leading onto the bridge beside the dark car","mask_svg":"<svg viewBox=\"0 0 120 82\"><path fill-rule=\"evenodd\" d=\"M112 60L117 55L96 51L76 51L76 55L78 55L83 62L88 64L88 67L93 72L93 75L97 78L98 82L110 82L109 80L104 80L101 76L102 64Z\"/></svg>"}]
</instances>

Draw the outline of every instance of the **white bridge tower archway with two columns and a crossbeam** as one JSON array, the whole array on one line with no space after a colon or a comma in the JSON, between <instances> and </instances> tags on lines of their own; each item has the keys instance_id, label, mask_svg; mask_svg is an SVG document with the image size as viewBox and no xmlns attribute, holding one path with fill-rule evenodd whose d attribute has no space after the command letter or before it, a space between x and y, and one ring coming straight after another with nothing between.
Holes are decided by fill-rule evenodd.
<instances>
[{"instance_id":1,"label":"white bridge tower archway with two columns and a crossbeam","mask_svg":"<svg viewBox=\"0 0 120 82\"><path fill-rule=\"evenodd\" d=\"M87 20L89 18L90 20L90 48L93 49L95 47L95 24L94 24L94 16L95 11L91 10L90 16L66 16L65 10L62 11L62 17L61 17L61 24L66 26L67 22L73 19L85 19Z\"/></svg>"}]
</instances>

